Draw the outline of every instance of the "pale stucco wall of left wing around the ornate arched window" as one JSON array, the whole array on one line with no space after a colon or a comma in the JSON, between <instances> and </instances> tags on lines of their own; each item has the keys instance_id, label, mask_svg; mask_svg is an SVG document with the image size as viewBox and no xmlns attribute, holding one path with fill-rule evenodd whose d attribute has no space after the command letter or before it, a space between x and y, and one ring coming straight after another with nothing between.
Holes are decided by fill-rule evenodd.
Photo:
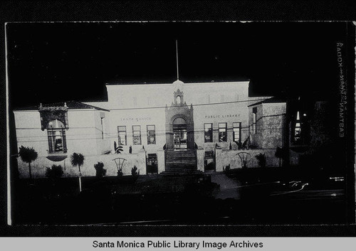
<instances>
[{"instance_id":1,"label":"pale stucco wall of left wing around the ornate arched window","mask_svg":"<svg viewBox=\"0 0 356 251\"><path fill-rule=\"evenodd\" d=\"M68 110L69 129L66 129L66 145L68 156L65 161L50 161L48 154L48 133L41 130L41 117L38 111L14 111L16 124L17 146L33 147L38 153L34 161L33 177L44 176L46 166L61 163L68 165L68 157L74 152L83 154L87 159L95 159L105 149L109 149L109 139L102 139L100 114L97 110ZM21 177L28 176L28 164L18 158ZM70 175L70 174L68 174Z\"/></svg>"}]
</instances>

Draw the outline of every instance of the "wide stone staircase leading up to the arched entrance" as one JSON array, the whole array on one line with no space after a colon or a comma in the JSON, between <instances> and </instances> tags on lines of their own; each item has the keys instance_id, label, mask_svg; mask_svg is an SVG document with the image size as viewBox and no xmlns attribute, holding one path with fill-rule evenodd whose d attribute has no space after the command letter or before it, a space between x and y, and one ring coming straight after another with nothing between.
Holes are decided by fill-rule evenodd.
<instances>
[{"instance_id":1,"label":"wide stone staircase leading up to the arched entrance","mask_svg":"<svg viewBox=\"0 0 356 251\"><path fill-rule=\"evenodd\" d=\"M197 151L195 149L172 149L166 151L166 168L163 175L186 175L197 171Z\"/></svg>"}]
</instances>

